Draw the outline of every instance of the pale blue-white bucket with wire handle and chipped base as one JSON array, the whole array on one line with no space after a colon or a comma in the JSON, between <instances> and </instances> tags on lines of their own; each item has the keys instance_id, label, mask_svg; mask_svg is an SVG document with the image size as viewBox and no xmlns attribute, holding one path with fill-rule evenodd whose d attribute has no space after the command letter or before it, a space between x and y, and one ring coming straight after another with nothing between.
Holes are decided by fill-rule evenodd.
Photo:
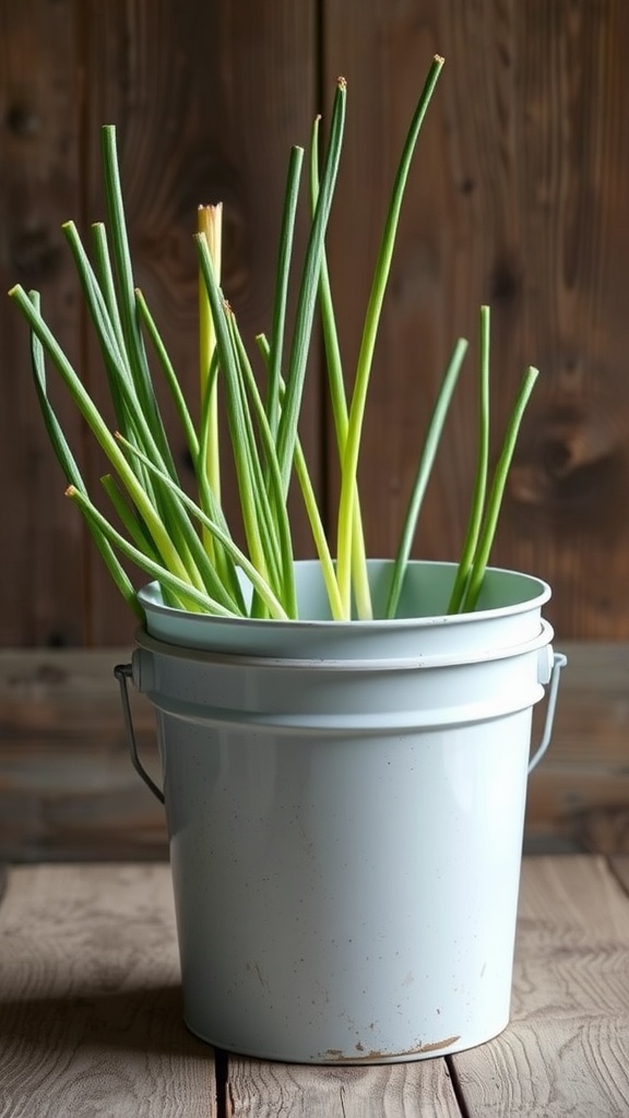
<instances>
[{"instance_id":1,"label":"pale blue-white bucket with wire handle and chipped base","mask_svg":"<svg viewBox=\"0 0 629 1118\"><path fill-rule=\"evenodd\" d=\"M376 603L392 565L370 563ZM456 568L413 562L395 620L332 622L298 565L299 622L185 614L141 591L121 665L132 758L163 798L189 1029L299 1063L472 1048L508 1023L527 774L560 670L550 588L490 569L445 616ZM126 680L156 709L163 795ZM529 759L546 684L543 739Z\"/></svg>"}]
</instances>

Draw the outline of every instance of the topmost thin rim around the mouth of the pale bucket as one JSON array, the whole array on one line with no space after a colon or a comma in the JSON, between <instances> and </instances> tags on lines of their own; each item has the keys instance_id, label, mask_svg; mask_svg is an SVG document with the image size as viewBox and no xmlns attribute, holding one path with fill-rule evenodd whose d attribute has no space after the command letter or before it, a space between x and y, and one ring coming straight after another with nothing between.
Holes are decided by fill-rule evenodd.
<instances>
[{"instance_id":1,"label":"topmost thin rim around the mouth of the pale bucket","mask_svg":"<svg viewBox=\"0 0 629 1118\"><path fill-rule=\"evenodd\" d=\"M367 563L393 563L393 560L388 559L369 559ZM306 568L308 566L316 568L319 567L318 559L298 559L295 560L295 566ZM429 559L412 559L409 562L409 567L412 568L439 568L440 570L457 570L458 563L448 561L432 561ZM548 582L539 578L537 575L529 575L526 571L514 570L509 567L487 567L486 575L504 575L515 578L522 578L524 582L528 582L531 586L531 597L525 597L519 601L511 603L505 606L491 606L486 609L476 609L470 613L461 614L430 614L430 615L419 615L411 617L376 617L368 620L353 617L348 622L339 622L334 618L307 618L307 617L289 617L289 618L274 618L274 617L224 617L216 614L198 614L191 613L186 609L178 609L173 606L167 606L161 601L161 591L159 582L151 581L142 586L138 591L138 600L144 610L159 617L162 620L181 620L186 618L186 625L194 626L206 626L212 624L213 626L229 626L236 631L246 632L247 629L261 629L274 631L283 628L290 631L291 633L313 632L319 631L321 633L385 633L394 631L404 631L409 628L433 628L435 626L443 625L467 625L489 619L491 617L510 617L519 613L526 613L542 606L550 600L552 590Z\"/></svg>"}]
</instances>

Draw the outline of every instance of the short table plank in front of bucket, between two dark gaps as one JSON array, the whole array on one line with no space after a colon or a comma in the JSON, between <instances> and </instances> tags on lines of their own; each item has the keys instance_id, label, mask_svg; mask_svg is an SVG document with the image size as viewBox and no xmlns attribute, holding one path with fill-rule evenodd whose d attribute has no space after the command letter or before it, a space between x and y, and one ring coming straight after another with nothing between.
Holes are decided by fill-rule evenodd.
<instances>
[{"instance_id":1,"label":"short table plank in front of bucket, between two dark gaps","mask_svg":"<svg viewBox=\"0 0 629 1118\"><path fill-rule=\"evenodd\" d=\"M444 1060L311 1068L229 1058L233 1118L460 1118Z\"/></svg>"}]
</instances>

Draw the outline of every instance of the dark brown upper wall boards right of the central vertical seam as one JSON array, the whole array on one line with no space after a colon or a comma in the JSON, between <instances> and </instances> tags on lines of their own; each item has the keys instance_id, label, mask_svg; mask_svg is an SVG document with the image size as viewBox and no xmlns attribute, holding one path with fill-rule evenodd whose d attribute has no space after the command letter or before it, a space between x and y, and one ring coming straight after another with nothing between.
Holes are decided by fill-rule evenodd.
<instances>
[{"instance_id":1,"label":"dark brown upper wall boards right of the central vertical seam","mask_svg":"<svg viewBox=\"0 0 629 1118\"><path fill-rule=\"evenodd\" d=\"M528 363L494 560L541 574L562 636L623 638L629 521L625 376L629 6L618 0L325 4L326 88L348 79L329 244L346 360L357 352L395 160L430 57L445 68L412 172L366 419L368 550L391 553L435 387L492 305L492 456ZM476 356L426 495L415 555L454 559L473 479ZM336 472L334 454L330 472ZM332 483L332 499L335 485Z\"/></svg>"}]
</instances>

